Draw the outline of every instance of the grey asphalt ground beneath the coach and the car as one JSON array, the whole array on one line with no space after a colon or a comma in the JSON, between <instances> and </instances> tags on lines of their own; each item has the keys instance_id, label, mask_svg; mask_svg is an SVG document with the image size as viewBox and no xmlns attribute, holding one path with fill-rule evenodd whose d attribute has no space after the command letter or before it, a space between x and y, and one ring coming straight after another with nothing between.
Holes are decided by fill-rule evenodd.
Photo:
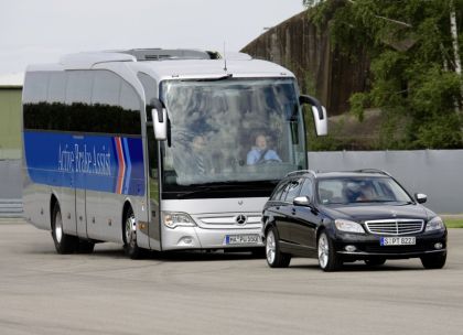
<instances>
[{"instance_id":1,"label":"grey asphalt ground beneath the coach and the car","mask_svg":"<svg viewBox=\"0 0 463 335\"><path fill-rule=\"evenodd\" d=\"M419 260L323 273L247 255L55 253L47 231L0 223L0 334L463 334L463 229L442 270Z\"/></svg>"}]
</instances>

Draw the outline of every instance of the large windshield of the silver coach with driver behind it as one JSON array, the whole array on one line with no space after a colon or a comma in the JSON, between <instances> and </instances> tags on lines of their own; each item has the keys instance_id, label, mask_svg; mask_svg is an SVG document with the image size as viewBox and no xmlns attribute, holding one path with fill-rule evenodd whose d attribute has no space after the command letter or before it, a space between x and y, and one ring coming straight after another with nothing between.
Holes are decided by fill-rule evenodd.
<instances>
[{"instance_id":1,"label":"large windshield of the silver coach with driver behind it","mask_svg":"<svg viewBox=\"0 0 463 335\"><path fill-rule=\"evenodd\" d=\"M161 93L171 125L170 145L161 143L164 191L305 169L293 79L168 80Z\"/></svg>"}]
</instances>

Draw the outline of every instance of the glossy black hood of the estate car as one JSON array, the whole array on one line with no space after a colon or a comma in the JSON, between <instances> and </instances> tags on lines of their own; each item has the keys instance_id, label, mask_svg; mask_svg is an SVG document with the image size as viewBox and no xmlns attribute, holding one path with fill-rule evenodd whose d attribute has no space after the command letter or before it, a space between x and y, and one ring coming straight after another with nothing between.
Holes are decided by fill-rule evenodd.
<instances>
[{"instance_id":1,"label":"glossy black hood of the estate car","mask_svg":"<svg viewBox=\"0 0 463 335\"><path fill-rule=\"evenodd\" d=\"M355 221L372 219L396 219L396 218L417 218L428 220L435 216L428 208L416 204L400 205L370 205L363 204L357 206L336 206L325 207L326 214L333 219L344 218Z\"/></svg>"}]
</instances>

